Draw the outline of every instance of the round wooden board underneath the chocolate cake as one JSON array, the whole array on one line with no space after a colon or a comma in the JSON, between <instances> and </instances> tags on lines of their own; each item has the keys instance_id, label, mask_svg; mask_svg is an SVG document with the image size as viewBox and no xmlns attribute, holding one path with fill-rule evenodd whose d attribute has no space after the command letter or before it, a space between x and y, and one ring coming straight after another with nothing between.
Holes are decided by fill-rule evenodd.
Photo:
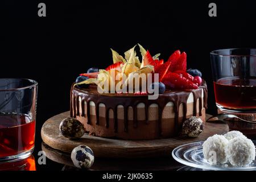
<instances>
[{"instance_id":1,"label":"round wooden board underneath the chocolate cake","mask_svg":"<svg viewBox=\"0 0 256 182\"><path fill-rule=\"evenodd\" d=\"M48 146L63 152L71 152L73 148L84 144L92 148L96 157L101 158L148 158L170 156L171 151L181 144L198 142L214 134L224 134L229 131L224 123L206 123L203 133L197 138L176 137L155 140L122 140L92 137L84 135L77 140L63 137L59 131L62 119L69 117L69 111L49 118L43 125L41 136ZM207 115L209 118L210 115Z\"/></svg>"}]
</instances>

